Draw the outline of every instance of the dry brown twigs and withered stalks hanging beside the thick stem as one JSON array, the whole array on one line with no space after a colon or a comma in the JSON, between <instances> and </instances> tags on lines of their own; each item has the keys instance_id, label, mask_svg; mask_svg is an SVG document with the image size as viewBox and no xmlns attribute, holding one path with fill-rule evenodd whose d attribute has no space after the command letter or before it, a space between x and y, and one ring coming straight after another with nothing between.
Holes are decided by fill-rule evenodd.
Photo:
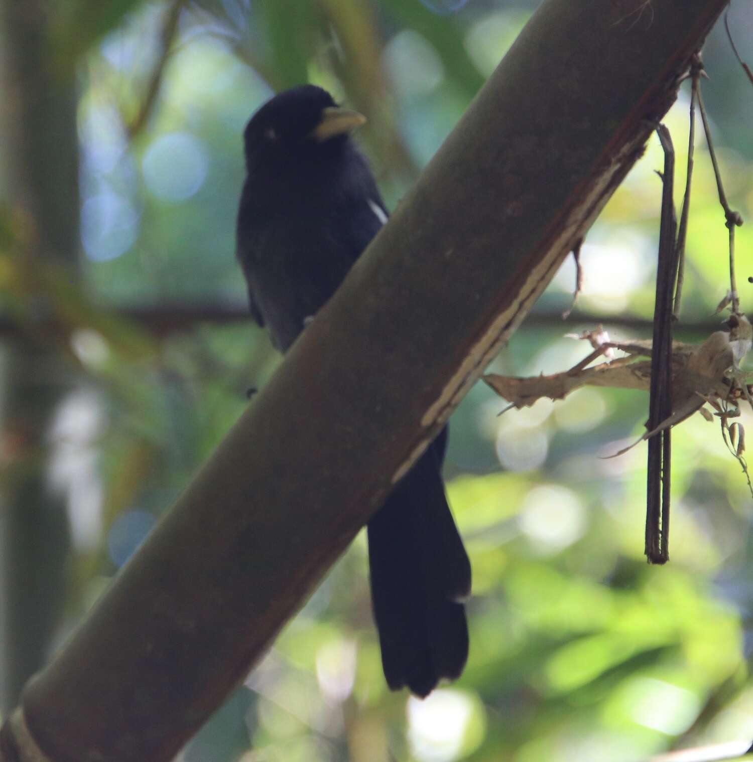
<instances>
[{"instance_id":1,"label":"dry brown twigs and withered stalks hanging beside the thick stem","mask_svg":"<svg viewBox=\"0 0 753 762\"><path fill-rule=\"evenodd\" d=\"M746 69L746 71L748 71ZM739 402L748 401L753 408L751 389L739 363L753 344L753 327L740 312L740 299L735 280L735 229L742 225L742 216L732 210L726 198L719 162L713 146L709 120L700 91L700 80L706 77L700 54L693 56L683 79L690 79L690 115L687 149L687 178L680 220L674 209L674 148L668 128L652 123L662 149L665 165L657 174L662 181L661 227L658 242L658 267L655 295L654 331L652 341L612 343L606 331L586 332L573 338L590 341L594 351L565 373L533 378L511 378L489 374L484 380L500 396L512 404L510 408L533 405L543 396L562 399L579 386L613 386L648 389L649 415L646 432L639 442L648 440L648 477L646 485L645 555L650 563L663 564L669 559L669 519L671 493L671 428L700 411L707 420L719 418L722 439L729 452L738 460L748 488L753 485L745 452L745 430L739 421ZM719 203L729 231L729 292L716 312L729 307L726 322L728 331L715 331L703 344L679 344L672 341L672 328L681 308L684 280L684 255L687 226L690 217L690 194L693 179L693 144L695 141L696 107L700 111L709 155L713 165ZM580 248L580 245L578 245ZM581 290L581 267L578 265L578 284L575 298ZM749 278L753 282L753 278ZM569 314L569 310L566 315ZM563 315L565 317L566 315ZM612 360L607 353L619 349L627 354ZM613 356L613 355L612 355ZM607 363L588 367L599 357ZM650 362L645 357L651 357ZM703 409L708 403L712 415ZM506 408L506 409L510 409ZM620 450L621 455L638 442Z\"/></svg>"}]
</instances>

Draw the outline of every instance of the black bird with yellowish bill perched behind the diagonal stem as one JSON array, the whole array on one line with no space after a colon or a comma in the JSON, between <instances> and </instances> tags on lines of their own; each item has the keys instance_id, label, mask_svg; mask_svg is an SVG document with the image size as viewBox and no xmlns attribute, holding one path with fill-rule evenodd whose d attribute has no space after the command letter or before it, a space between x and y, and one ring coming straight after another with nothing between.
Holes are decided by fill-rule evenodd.
<instances>
[{"instance_id":1,"label":"black bird with yellowish bill perched behind the diagonal stem","mask_svg":"<svg viewBox=\"0 0 753 762\"><path fill-rule=\"evenodd\" d=\"M251 312L284 352L387 220L349 133L365 122L314 85L285 91L246 126L237 256ZM468 656L460 602L471 566L452 520L442 431L368 523L372 602L389 687L426 696Z\"/></svg>"}]
</instances>

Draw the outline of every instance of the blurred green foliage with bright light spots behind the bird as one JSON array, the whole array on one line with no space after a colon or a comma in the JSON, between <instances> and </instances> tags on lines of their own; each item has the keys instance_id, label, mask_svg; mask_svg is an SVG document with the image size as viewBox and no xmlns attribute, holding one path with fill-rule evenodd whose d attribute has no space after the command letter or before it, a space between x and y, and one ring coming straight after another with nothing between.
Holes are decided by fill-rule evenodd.
<instances>
[{"instance_id":1,"label":"blurred green foliage with bright light spots behind the bird","mask_svg":"<svg viewBox=\"0 0 753 762\"><path fill-rule=\"evenodd\" d=\"M249 114L275 88L311 80L332 89L370 117L362 141L394 205L536 4L185 3L159 97L133 139L125 125L155 75L172 3L95 5L63 4L51 53L77 62L81 76L85 288L24 261L33 230L15 210L0 211L2 305L86 379L83 401L61 411L50 444L69 464L76 543L63 629L240 415L246 387L278 363L250 322L189 320L155 337L114 316L134 306L243 304L233 235ZM753 50L753 27L733 13L739 48ZM722 173L747 217L753 93L720 30L706 66ZM687 94L667 123L681 187ZM683 316L698 321L727 286L726 229L700 138L696 165ZM613 337L644 338L623 323L652 313L660 167L652 142L590 232L569 322L558 314L571 301L571 263L494 371L568 367L587 351L563 335L594 319ZM743 281L753 274L751 235L738 232ZM746 286L743 309L748 296ZM52 336L34 328L40 304L63 326ZM672 562L658 568L642 557L645 451L603 459L636 437L645 396L584 389L499 418L503 406L478 386L452 421L449 495L475 575L461 680L424 702L386 690L359 538L186 760L615 762L753 736L753 506L718 430L698 416L677 429Z\"/></svg>"}]
</instances>

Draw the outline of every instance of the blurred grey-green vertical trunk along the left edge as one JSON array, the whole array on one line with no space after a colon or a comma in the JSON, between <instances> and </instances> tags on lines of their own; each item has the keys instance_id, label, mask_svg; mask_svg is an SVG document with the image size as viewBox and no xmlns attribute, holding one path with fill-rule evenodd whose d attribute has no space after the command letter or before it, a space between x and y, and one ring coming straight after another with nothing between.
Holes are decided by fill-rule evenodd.
<instances>
[{"instance_id":1,"label":"blurred grey-green vertical trunk along the left edge","mask_svg":"<svg viewBox=\"0 0 753 762\"><path fill-rule=\"evenodd\" d=\"M0 0L2 198L23 245L77 277L76 83L57 65L54 4ZM5 252L4 252L5 253ZM29 261L19 263L28 267ZM31 267L36 263L31 262ZM47 305L34 306L40 318ZM47 338L47 337L44 337ZM60 615L69 549L66 495L48 478L50 424L74 379L53 341L8 339L0 351L0 709L43 664Z\"/></svg>"}]
</instances>

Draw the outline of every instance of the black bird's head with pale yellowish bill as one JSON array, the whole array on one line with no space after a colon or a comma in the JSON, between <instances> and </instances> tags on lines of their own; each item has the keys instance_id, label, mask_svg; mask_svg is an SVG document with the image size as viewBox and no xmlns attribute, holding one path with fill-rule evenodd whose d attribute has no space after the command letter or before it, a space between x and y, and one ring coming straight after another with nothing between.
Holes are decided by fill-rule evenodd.
<instances>
[{"instance_id":1,"label":"black bird's head with pale yellowish bill","mask_svg":"<svg viewBox=\"0 0 753 762\"><path fill-rule=\"evenodd\" d=\"M315 85L286 90L267 101L246 125L246 165L252 171L260 165L317 158L342 147L365 121Z\"/></svg>"}]
</instances>

